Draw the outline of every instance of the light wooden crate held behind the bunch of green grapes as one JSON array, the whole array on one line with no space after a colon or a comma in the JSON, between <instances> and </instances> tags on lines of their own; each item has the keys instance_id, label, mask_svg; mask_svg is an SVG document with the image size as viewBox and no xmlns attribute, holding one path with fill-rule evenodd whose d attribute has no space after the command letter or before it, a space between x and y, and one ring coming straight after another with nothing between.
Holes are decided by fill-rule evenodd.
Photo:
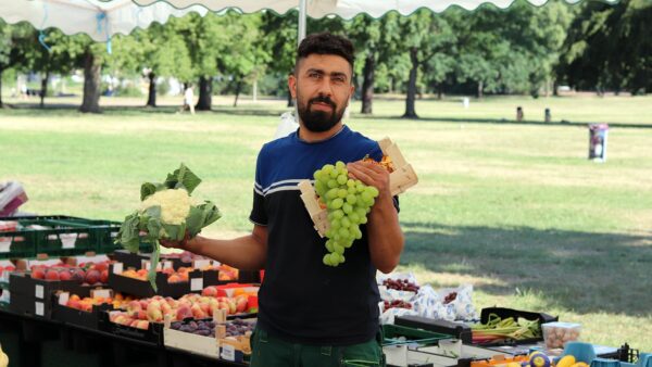
<instances>
[{"instance_id":1,"label":"light wooden crate held behind the bunch of green grapes","mask_svg":"<svg viewBox=\"0 0 652 367\"><path fill-rule=\"evenodd\" d=\"M398 195L415 186L418 182L418 177L412 165L405 161L399 147L389 138L378 141L378 144L380 145L383 154L389 156L393 164L394 170L389 174L391 194ZM330 224L328 223L328 211L319 205L317 193L310 180L306 179L299 182L299 189L301 190L301 200L310 214L315 229L321 237L325 237L326 231L330 227Z\"/></svg>"}]
</instances>

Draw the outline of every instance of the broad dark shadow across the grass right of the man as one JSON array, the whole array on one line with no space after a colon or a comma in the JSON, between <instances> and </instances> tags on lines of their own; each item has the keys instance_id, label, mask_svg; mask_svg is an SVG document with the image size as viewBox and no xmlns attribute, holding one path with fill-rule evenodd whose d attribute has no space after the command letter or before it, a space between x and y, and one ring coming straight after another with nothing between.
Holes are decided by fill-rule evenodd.
<instances>
[{"instance_id":1,"label":"broad dark shadow across the grass right of the man","mask_svg":"<svg viewBox=\"0 0 652 367\"><path fill-rule=\"evenodd\" d=\"M651 315L652 232L647 236L402 223L401 262L488 278L491 294L540 292L579 313Z\"/></svg>"}]
</instances>

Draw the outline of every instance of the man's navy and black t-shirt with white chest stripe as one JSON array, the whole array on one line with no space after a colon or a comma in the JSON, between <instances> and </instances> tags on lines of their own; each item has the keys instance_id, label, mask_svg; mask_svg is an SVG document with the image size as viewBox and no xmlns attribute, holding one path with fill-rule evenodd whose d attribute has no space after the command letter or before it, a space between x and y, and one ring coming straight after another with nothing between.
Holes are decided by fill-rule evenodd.
<instances>
[{"instance_id":1,"label":"man's navy and black t-shirt with white chest stripe","mask_svg":"<svg viewBox=\"0 0 652 367\"><path fill-rule=\"evenodd\" d=\"M335 136L306 142L298 131L263 145L255 169L250 219L267 227L265 279L259 293L259 326L287 341L350 345L378 331L376 268L363 237L344 252L346 262L324 265L321 238L301 201L298 184L313 180L325 164L379 161L378 142L347 126ZM397 203L398 204L398 203Z\"/></svg>"}]
</instances>

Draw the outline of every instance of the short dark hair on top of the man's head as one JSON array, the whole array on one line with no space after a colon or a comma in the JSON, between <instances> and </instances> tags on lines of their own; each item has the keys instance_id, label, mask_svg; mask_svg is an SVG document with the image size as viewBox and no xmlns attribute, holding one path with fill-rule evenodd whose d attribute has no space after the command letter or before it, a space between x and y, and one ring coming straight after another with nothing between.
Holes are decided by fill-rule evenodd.
<instances>
[{"instance_id":1,"label":"short dark hair on top of the man's head","mask_svg":"<svg viewBox=\"0 0 652 367\"><path fill-rule=\"evenodd\" d=\"M349 62L351 71L353 71L353 63L355 62L353 43L342 36L333 35L327 31L306 36L297 49L294 72L297 72L301 59L305 59L313 53L341 56Z\"/></svg>"}]
</instances>

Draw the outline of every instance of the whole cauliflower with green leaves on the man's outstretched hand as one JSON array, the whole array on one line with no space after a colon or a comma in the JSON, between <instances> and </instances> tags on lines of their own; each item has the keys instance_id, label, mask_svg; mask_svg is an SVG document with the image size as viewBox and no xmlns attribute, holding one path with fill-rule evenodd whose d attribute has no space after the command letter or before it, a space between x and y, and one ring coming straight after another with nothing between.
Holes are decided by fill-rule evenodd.
<instances>
[{"instance_id":1,"label":"whole cauliflower with green leaves on the man's outstretched hand","mask_svg":"<svg viewBox=\"0 0 652 367\"><path fill-rule=\"evenodd\" d=\"M190 194L200 182L201 179L181 164L178 169L167 175L163 184L142 184L140 207L126 216L120 228L115 242L130 252L138 252L141 232L145 232L142 241L152 243L148 279L154 291L160 255L159 240L181 241L193 238L202 228L222 216L212 202L193 202Z\"/></svg>"}]
</instances>

